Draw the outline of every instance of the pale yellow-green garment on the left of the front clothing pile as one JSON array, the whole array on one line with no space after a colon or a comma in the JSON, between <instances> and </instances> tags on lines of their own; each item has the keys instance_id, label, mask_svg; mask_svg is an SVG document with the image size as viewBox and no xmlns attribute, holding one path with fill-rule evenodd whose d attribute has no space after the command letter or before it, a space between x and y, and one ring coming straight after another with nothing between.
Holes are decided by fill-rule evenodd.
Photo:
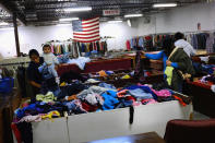
<instances>
[{"instance_id":1,"label":"pale yellow-green garment on the left of the front clothing pile","mask_svg":"<svg viewBox=\"0 0 215 143\"><path fill-rule=\"evenodd\" d=\"M52 92L48 92L46 95L37 94L36 100L44 102L44 103L51 103L56 100L56 97Z\"/></svg>"}]
</instances>

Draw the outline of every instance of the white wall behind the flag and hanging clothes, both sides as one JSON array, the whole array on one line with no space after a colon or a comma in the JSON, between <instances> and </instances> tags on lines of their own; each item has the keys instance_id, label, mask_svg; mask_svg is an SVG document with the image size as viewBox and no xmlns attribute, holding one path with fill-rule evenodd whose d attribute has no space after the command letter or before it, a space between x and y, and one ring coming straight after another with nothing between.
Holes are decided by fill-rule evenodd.
<instances>
[{"instance_id":1,"label":"white wall behind the flag and hanging clothes, both sides","mask_svg":"<svg viewBox=\"0 0 215 143\"><path fill-rule=\"evenodd\" d=\"M112 36L107 39L109 49L126 48L126 40L132 36L155 33L194 32L198 23L202 31L215 29L215 2L199 3L183 8L175 8L166 12L151 15L151 22L145 24L144 17L132 20L132 27L123 23L100 23L100 36ZM68 39L72 37L72 26L25 26L19 27L21 52L27 53L36 48L41 52L41 44L52 39ZM0 29L0 55L12 57L16 55L13 29Z\"/></svg>"}]
</instances>

